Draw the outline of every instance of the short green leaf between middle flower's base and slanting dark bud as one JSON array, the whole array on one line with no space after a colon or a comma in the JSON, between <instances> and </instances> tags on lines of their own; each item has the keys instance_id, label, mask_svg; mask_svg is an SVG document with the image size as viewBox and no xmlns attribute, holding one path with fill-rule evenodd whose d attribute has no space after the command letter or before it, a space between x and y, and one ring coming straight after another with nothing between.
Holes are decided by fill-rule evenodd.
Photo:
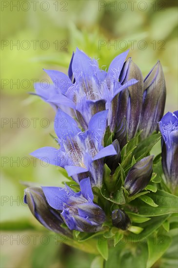
<instances>
[{"instance_id":1,"label":"short green leaf between middle flower's base and slanting dark bud","mask_svg":"<svg viewBox=\"0 0 178 268\"><path fill-rule=\"evenodd\" d=\"M109 193L106 189L106 186L103 185L101 188L101 194L104 198L106 198L107 200L116 203L118 205L122 205L125 204L125 198L123 195L123 189L119 188L116 192L114 193Z\"/></svg>"}]
</instances>

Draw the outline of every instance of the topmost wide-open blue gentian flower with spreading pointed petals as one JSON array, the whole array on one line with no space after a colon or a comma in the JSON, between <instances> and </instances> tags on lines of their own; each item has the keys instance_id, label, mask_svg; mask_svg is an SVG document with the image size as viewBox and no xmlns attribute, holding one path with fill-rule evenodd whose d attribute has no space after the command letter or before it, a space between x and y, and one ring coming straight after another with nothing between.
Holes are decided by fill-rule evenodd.
<instances>
[{"instance_id":1,"label":"topmost wide-open blue gentian flower with spreading pointed petals","mask_svg":"<svg viewBox=\"0 0 178 268\"><path fill-rule=\"evenodd\" d=\"M37 87L37 95L56 106L68 106L76 111L77 118L84 130L87 130L92 115L108 110L107 124L111 132L116 126L118 112L118 94L125 88L138 82L129 76L130 80L119 81L128 51L123 52L111 62L108 72L99 69L98 62L85 53L76 50L69 65L69 77L59 71L45 70L54 85L49 98L43 90ZM134 75L134 74L133 74Z\"/></svg>"}]
</instances>

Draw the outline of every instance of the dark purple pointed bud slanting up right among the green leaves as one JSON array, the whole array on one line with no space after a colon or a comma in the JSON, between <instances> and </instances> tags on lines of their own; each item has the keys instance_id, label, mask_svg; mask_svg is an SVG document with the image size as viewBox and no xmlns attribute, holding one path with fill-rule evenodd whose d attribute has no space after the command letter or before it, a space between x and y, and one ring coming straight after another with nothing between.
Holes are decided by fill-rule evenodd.
<instances>
[{"instance_id":1,"label":"dark purple pointed bud slanting up right among the green leaves","mask_svg":"<svg viewBox=\"0 0 178 268\"><path fill-rule=\"evenodd\" d=\"M149 155L137 162L128 172L124 188L130 195L142 191L149 183L153 173L153 155Z\"/></svg>"}]
</instances>

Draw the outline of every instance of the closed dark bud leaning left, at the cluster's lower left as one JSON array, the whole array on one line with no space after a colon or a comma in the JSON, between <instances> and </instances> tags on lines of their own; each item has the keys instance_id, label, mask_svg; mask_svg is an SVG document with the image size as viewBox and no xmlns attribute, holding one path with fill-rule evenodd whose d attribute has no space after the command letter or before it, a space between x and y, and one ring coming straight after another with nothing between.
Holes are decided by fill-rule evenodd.
<instances>
[{"instance_id":1,"label":"closed dark bud leaning left, at the cluster's lower left","mask_svg":"<svg viewBox=\"0 0 178 268\"><path fill-rule=\"evenodd\" d=\"M51 208L41 188L29 187L25 189L24 203L28 205L32 214L47 229L72 237L71 232L63 227L60 211Z\"/></svg>"}]
</instances>

